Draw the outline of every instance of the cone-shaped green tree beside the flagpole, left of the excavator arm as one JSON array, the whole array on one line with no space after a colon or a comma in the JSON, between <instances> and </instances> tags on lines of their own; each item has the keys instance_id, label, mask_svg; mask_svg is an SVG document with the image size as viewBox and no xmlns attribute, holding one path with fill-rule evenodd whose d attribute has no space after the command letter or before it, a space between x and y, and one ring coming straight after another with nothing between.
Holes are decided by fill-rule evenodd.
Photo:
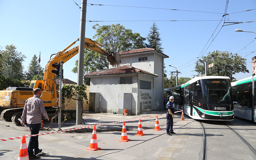
<instances>
[{"instance_id":1,"label":"cone-shaped green tree beside the flagpole, left of the excavator arm","mask_svg":"<svg viewBox=\"0 0 256 160\"><path fill-rule=\"evenodd\" d=\"M39 70L39 74L38 74ZM32 60L30 61L28 65L28 71L26 72L26 79L27 80L43 80L44 77L44 69L38 65L38 59L37 56L34 55L32 57Z\"/></svg>"}]
</instances>

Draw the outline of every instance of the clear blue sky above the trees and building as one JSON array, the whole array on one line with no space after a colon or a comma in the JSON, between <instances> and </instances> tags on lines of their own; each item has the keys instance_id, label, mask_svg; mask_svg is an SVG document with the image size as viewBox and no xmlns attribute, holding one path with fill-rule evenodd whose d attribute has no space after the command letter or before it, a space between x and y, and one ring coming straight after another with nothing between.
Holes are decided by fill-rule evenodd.
<instances>
[{"instance_id":1,"label":"clear blue sky above the trees and building","mask_svg":"<svg viewBox=\"0 0 256 160\"><path fill-rule=\"evenodd\" d=\"M81 0L74 1L81 6ZM25 69L28 68L33 55L36 54L38 57L39 52L41 52L40 64L44 68L47 61L50 60L51 54L63 50L79 37L81 12L74 1L0 0L0 46L3 47L2 50L6 45L15 45L18 52L27 56L23 63ZM237 53L247 59L246 62L248 63L246 63L246 66L250 73L233 75L237 80L252 75L251 58L256 56L256 52L254 52L256 45L255 41L253 41L256 35L253 33L235 32L235 29L256 32L255 0L229 0L227 13L232 14L228 14L223 18L225 22L255 22L223 27L224 21L220 22L220 20L225 13L225 0L88 0L87 3L86 20L103 21L86 23L85 37L87 38L92 38L95 35L96 32L92 29L92 26L96 23L100 26L119 23L127 29L132 29L133 33L137 32L141 36L146 37L153 24L153 20L155 20L158 31L161 34L164 54L170 57L164 61L168 76L170 76L170 71L176 70L168 66L172 65L182 73L179 77L192 78L192 75L197 74L193 71L195 70L194 63L196 62L194 59L201 57L202 54L207 56L207 53L216 50L229 51L233 54ZM90 4L104 4L104 6ZM252 11L241 12L246 10ZM215 29L216 31L214 32ZM210 41L208 42L209 39ZM212 44L210 45L210 43ZM77 45L78 42L74 47ZM204 48L204 46L206 47ZM64 78L75 82L77 82L77 74L72 73L71 70L75 66L77 59L78 55L64 63Z\"/></svg>"}]
</instances>

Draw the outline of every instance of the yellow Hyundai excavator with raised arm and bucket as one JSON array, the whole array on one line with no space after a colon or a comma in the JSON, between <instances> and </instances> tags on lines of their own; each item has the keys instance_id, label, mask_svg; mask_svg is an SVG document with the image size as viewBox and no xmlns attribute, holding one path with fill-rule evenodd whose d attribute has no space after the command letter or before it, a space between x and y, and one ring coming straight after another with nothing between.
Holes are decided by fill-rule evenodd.
<instances>
[{"instance_id":1,"label":"yellow Hyundai excavator with raised arm and bucket","mask_svg":"<svg viewBox=\"0 0 256 160\"><path fill-rule=\"evenodd\" d=\"M55 82L55 74L52 73L52 70L54 70L55 68L52 66L52 64L60 63L60 61L63 61L65 63L66 61L74 57L78 53L79 46L76 46L75 48L70 50L68 49L77 41L79 41L79 39L66 47L63 51L56 53L57 55L54 58L52 58L52 56L55 54L51 55L51 58L44 69L43 80L31 81L29 88L8 87L5 90L0 91L0 109L2 110L1 117L5 121L12 121L17 125L20 125L20 121L18 120L18 118L20 118L20 116L22 115L25 101L28 98L34 96L33 90L35 88L40 88L42 90L43 96L41 97L41 99L44 101L44 107L48 113L49 118L55 116L58 94L56 91L57 85ZM109 51L109 49L103 48L102 45L94 42L89 38L85 38L84 48L88 48L105 55L110 65L119 66L119 53L113 53ZM76 110L67 110L67 119L75 118Z\"/></svg>"}]
</instances>

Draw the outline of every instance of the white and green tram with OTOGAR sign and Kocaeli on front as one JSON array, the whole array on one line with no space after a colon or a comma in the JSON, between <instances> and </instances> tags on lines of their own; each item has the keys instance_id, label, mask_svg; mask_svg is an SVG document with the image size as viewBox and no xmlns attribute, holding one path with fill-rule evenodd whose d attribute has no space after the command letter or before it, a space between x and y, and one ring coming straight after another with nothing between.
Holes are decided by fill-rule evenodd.
<instances>
[{"instance_id":1,"label":"white and green tram with OTOGAR sign and Kocaeli on front","mask_svg":"<svg viewBox=\"0 0 256 160\"><path fill-rule=\"evenodd\" d=\"M167 89L165 89L167 91ZM165 93L167 96L167 93ZM233 120L234 105L230 78L198 76L185 84L170 88L175 110L183 110L193 119Z\"/></svg>"}]
</instances>

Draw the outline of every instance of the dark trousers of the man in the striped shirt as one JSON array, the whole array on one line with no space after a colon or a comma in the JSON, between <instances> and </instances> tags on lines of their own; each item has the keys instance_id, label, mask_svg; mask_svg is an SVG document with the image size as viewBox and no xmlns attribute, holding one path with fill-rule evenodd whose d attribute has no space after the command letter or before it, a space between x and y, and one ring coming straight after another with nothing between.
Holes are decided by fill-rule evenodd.
<instances>
[{"instance_id":1,"label":"dark trousers of the man in the striped shirt","mask_svg":"<svg viewBox=\"0 0 256 160\"><path fill-rule=\"evenodd\" d=\"M41 124L28 124L30 130L31 130L31 135L33 134L38 134ZM37 151L38 148L38 136L35 137L30 137L29 143L28 143L28 156L32 156L33 155L33 149L35 148L35 151Z\"/></svg>"}]
</instances>

